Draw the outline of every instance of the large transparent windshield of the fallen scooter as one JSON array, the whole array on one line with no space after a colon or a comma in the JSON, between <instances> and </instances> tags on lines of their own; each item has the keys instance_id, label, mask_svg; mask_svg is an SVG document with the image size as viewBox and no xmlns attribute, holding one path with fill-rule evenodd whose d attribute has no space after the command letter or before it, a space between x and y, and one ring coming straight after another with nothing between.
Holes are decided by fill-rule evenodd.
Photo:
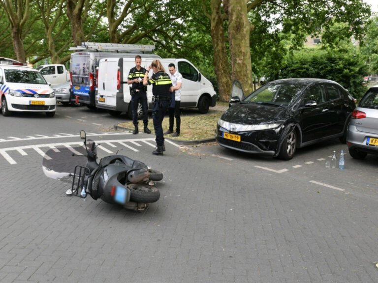
<instances>
[{"instance_id":1,"label":"large transparent windshield of the fallen scooter","mask_svg":"<svg viewBox=\"0 0 378 283\"><path fill-rule=\"evenodd\" d=\"M77 165L85 166L87 151L85 145L76 147L65 145L49 149L42 161L42 170L49 178L71 184L72 176Z\"/></svg>"}]
</instances>

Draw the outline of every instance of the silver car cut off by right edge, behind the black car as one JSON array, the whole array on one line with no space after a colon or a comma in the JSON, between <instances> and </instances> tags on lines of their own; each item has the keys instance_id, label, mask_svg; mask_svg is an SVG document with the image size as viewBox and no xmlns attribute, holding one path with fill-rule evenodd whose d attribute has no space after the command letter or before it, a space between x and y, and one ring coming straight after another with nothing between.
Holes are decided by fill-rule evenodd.
<instances>
[{"instance_id":1,"label":"silver car cut off by right edge, behind the black car","mask_svg":"<svg viewBox=\"0 0 378 283\"><path fill-rule=\"evenodd\" d=\"M356 159L378 154L378 85L369 88L353 111L347 145L350 156Z\"/></svg>"}]
</instances>

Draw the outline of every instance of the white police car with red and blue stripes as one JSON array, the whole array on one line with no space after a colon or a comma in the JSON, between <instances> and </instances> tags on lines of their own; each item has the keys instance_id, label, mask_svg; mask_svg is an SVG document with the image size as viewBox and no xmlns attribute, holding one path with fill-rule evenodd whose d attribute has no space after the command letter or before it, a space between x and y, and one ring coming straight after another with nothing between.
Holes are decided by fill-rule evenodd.
<instances>
[{"instance_id":1,"label":"white police car with red and blue stripes","mask_svg":"<svg viewBox=\"0 0 378 283\"><path fill-rule=\"evenodd\" d=\"M23 63L0 61L0 103L4 116L45 112L53 117L57 102L54 90L38 70Z\"/></svg>"}]
</instances>

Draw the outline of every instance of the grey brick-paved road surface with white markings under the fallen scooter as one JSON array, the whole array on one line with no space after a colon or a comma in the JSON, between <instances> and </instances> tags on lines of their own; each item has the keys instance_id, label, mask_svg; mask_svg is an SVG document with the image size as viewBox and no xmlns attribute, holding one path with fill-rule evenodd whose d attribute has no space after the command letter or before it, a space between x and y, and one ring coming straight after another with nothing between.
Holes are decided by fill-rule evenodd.
<instances>
[{"instance_id":1,"label":"grey brick-paved road surface with white markings under the fallen scooter","mask_svg":"<svg viewBox=\"0 0 378 283\"><path fill-rule=\"evenodd\" d=\"M294 159L258 157L215 143L169 142L114 131L85 107L0 116L0 282L378 282L378 156L326 169L338 140ZM152 125L151 125L152 126ZM100 157L121 149L164 173L143 212L66 197L46 177L50 148L86 130Z\"/></svg>"}]
</instances>

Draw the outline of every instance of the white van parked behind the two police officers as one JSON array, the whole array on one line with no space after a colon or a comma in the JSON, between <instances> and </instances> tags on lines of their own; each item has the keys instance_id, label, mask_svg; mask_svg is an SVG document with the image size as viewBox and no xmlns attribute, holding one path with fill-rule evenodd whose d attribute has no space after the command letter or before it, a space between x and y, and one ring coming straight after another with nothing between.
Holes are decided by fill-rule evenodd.
<instances>
[{"instance_id":1,"label":"white van parked behind the two police officers","mask_svg":"<svg viewBox=\"0 0 378 283\"><path fill-rule=\"evenodd\" d=\"M143 58L141 66L151 65L153 58ZM159 59L168 73L168 65L175 64L183 76L181 88L181 108L197 107L200 113L207 113L209 107L214 107L217 94L213 85L186 59ZM132 117L131 96L127 77L131 68L135 67L135 59L127 57L103 58L98 66L98 86L96 91L96 107L108 109L112 115L126 112ZM149 74L152 75L152 72ZM152 86L147 87L149 109L152 109ZM141 105L138 107L138 117L142 116Z\"/></svg>"}]
</instances>

